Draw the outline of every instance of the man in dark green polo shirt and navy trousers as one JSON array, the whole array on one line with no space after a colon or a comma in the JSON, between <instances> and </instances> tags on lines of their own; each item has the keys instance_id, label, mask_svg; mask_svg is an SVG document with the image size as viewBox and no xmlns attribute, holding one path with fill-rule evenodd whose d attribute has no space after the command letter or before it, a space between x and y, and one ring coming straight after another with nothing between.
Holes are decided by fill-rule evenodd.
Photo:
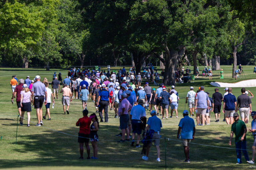
<instances>
[{"instance_id":1,"label":"man in dark green polo shirt and navy trousers","mask_svg":"<svg viewBox=\"0 0 256 170\"><path fill-rule=\"evenodd\" d=\"M235 122L231 126L231 133L230 133L230 139L228 144L231 145L231 139L233 137L233 134L235 133L235 145L236 145L236 155L237 155L237 163L242 163L242 155L241 155L241 149L246 161L249 161L249 156L246 150L246 132L247 128L245 126L245 123L241 120L239 120L238 113L234 113L234 119Z\"/></svg>"}]
</instances>

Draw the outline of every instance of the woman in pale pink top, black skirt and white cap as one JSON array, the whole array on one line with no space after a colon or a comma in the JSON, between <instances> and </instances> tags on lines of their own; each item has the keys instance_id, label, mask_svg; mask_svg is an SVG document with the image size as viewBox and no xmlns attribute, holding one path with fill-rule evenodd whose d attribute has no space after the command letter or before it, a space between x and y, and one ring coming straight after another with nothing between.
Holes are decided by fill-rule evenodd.
<instances>
[{"instance_id":1,"label":"woman in pale pink top, black skirt and white cap","mask_svg":"<svg viewBox=\"0 0 256 170\"><path fill-rule=\"evenodd\" d=\"M29 121L30 121L30 112L31 112L31 92L26 84L23 84L23 89L20 92L20 106L21 106L21 118L20 118L20 125L23 126L23 117L24 113L27 112L28 115L28 124L27 127L29 126Z\"/></svg>"}]
</instances>

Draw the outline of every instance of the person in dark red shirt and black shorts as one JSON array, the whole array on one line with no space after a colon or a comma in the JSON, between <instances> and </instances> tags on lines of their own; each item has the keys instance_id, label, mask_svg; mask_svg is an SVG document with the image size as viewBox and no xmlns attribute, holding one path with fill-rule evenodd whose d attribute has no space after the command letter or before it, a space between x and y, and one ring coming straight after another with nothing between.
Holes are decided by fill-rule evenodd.
<instances>
[{"instance_id":1,"label":"person in dark red shirt and black shorts","mask_svg":"<svg viewBox=\"0 0 256 170\"><path fill-rule=\"evenodd\" d=\"M91 119L87 116L88 110L83 110L83 116L80 118L76 126L79 126L79 132L78 132L78 142L79 142L79 148L80 148L80 158L83 159L83 152L84 152L84 144L86 146L87 150L87 159L90 159L90 147L89 147L89 139L90 139L90 125L91 125Z\"/></svg>"}]
</instances>

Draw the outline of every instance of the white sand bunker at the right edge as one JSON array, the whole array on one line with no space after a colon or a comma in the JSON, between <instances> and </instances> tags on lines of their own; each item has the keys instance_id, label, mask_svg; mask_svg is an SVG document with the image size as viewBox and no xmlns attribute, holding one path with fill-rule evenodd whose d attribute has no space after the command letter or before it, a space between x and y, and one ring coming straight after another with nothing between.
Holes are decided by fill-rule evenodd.
<instances>
[{"instance_id":1,"label":"white sand bunker at the right edge","mask_svg":"<svg viewBox=\"0 0 256 170\"><path fill-rule=\"evenodd\" d=\"M256 79L244 80L237 83L211 82L210 84L215 87L256 87Z\"/></svg>"}]
</instances>

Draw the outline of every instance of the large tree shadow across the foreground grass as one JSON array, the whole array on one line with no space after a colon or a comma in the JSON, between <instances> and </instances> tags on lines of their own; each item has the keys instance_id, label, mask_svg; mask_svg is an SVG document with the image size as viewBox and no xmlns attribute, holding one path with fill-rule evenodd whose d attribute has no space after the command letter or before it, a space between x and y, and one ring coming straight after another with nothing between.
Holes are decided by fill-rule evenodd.
<instances>
[{"instance_id":1,"label":"large tree shadow across the foreground grass","mask_svg":"<svg viewBox=\"0 0 256 170\"><path fill-rule=\"evenodd\" d=\"M15 125L16 126L16 125ZM23 127L22 127L23 128ZM156 162L156 149L151 147L149 153L149 161L145 162L141 159L141 149L130 146L130 142L119 143L121 137L115 136L120 133L118 126L100 124L98 158L99 160L79 160L79 145L77 135L79 128L72 127L61 132L76 135L66 135L52 130L40 127L40 134L18 134L17 147L12 143L12 152L18 155L24 154L22 159L2 159L0 160L0 168L14 168L26 166L100 166L104 167L133 167L133 168L149 168L163 169L165 167L165 140L160 140L161 162ZM227 146L228 136L223 135L224 132L196 129L196 138L192 142L207 145ZM230 164L236 159L235 150L223 148L211 148L209 146L199 146L190 144L190 164L184 164L185 159L183 146L180 139L177 139L177 129L165 128L161 130L162 138L168 137L178 141L166 139L166 162L167 168L187 168L187 169L230 169ZM217 136L216 138L207 137ZM91 155L93 149L91 147ZM141 143L140 143L141 144ZM142 145L142 144L141 144ZM232 146L234 147L234 146ZM33 158L26 155L34 155ZM86 150L84 157L86 158ZM23 157L23 156L22 156ZM206 165L207 163L207 165ZM217 164L217 165L216 165ZM219 165L221 166L219 166ZM232 167L235 169L236 167ZM241 168L241 167L240 167Z\"/></svg>"}]
</instances>

